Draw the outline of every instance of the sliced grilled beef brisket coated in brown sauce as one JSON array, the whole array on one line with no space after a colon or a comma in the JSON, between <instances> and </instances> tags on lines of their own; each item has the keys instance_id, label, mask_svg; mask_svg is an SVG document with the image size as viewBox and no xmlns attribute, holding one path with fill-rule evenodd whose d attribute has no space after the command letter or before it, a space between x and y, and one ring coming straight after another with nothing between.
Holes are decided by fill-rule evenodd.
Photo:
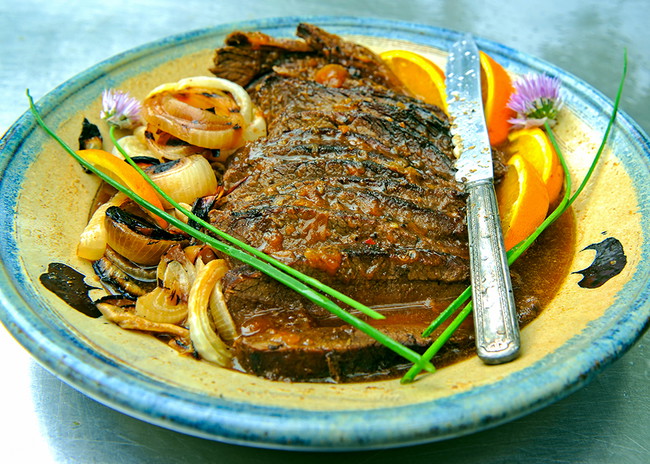
<instances>
[{"instance_id":1,"label":"sliced grilled beef brisket coated in brown sauce","mask_svg":"<svg viewBox=\"0 0 650 464\"><path fill-rule=\"evenodd\" d=\"M408 95L370 50L313 25L303 40L233 33L212 71L247 85L268 136L233 155L218 228L368 305L430 300L378 328L413 349L467 285L465 194L449 123ZM315 79L335 63L348 78ZM404 360L273 279L230 260L228 308L239 366L272 379L350 381ZM441 356L471 343L461 331Z\"/></svg>"}]
</instances>

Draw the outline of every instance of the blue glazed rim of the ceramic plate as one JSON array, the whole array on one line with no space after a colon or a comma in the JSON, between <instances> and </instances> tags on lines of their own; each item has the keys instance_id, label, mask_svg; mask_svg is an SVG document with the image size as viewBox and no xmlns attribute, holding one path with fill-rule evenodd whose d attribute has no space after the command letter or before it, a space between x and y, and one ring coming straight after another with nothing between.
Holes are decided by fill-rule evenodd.
<instances>
[{"instance_id":1,"label":"blue glazed rim of the ceramic plate","mask_svg":"<svg viewBox=\"0 0 650 464\"><path fill-rule=\"evenodd\" d=\"M401 21L353 17L285 17L225 24L155 41L110 58L60 85L38 105L46 115L55 113L57 105L76 89L117 67L136 63L152 50L174 50L180 45L225 35L235 29L293 28L301 21L339 34L400 38L438 48L461 34ZM563 86L574 97L571 104L582 105L588 110L600 108L604 114L611 111L612 104L604 95L563 70L494 42L480 38L477 42L483 50L506 60L515 71L533 70L560 77ZM603 118L595 117L594 122L602 124L604 129L606 117L604 122ZM634 162L639 164L645 177L650 177L648 137L624 113L619 113L618 128L638 155ZM34 129L33 118L25 113L5 134L0 142L3 173L11 163L29 163L29 154L22 154L22 158L18 155L23 141L32 136ZM0 204L5 211L15 210L19 189L19 179L3 176ZM643 230L648 230L645 227L650 216L648 206L645 202L640 206ZM191 435L252 446L310 450L386 448L442 440L493 427L544 407L583 386L625 353L647 329L650 320L647 303L650 270L643 264L649 262L645 259L648 250L644 246L644 259L626 284L628 291L618 296L604 316L567 342L562 353L552 353L497 383L430 403L364 411L323 412L258 406L170 388L80 343L55 315L44 313L44 308L36 308L40 309L37 311L34 303L25 298L26 284L21 280L13 232L13 219L0 218L3 262L0 319L41 364L88 396L131 416ZM522 389L522 385L527 388ZM489 405L480 401L480 398L495 395L509 400Z\"/></svg>"}]
</instances>

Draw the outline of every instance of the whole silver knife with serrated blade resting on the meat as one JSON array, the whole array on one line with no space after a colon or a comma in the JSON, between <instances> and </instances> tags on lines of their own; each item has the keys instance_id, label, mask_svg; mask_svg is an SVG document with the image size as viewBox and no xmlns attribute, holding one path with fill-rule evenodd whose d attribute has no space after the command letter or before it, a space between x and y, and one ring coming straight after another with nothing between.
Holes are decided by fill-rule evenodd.
<instances>
[{"instance_id":1,"label":"whole silver knife with serrated blade resting on the meat","mask_svg":"<svg viewBox=\"0 0 650 464\"><path fill-rule=\"evenodd\" d=\"M520 337L510 271L494 191L492 150L481 98L479 51L467 34L451 47L447 107L456 180L465 185L476 351L486 364L519 354Z\"/></svg>"}]
</instances>

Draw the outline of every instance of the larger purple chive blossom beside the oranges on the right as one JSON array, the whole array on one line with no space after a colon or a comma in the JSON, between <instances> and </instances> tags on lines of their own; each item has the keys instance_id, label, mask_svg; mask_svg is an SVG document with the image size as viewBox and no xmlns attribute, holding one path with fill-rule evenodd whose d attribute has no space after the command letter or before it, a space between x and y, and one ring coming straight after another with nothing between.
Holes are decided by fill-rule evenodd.
<instances>
[{"instance_id":1,"label":"larger purple chive blossom beside the oranges on the right","mask_svg":"<svg viewBox=\"0 0 650 464\"><path fill-rule=\"evenodd\" d=\"M545 74L527 74L513 84L515 91L510 97L508 107L517 117L508 122L515 128L543 126L545 122L553 126L562 108L560 80Z\"/></svg>"}]
</instances>

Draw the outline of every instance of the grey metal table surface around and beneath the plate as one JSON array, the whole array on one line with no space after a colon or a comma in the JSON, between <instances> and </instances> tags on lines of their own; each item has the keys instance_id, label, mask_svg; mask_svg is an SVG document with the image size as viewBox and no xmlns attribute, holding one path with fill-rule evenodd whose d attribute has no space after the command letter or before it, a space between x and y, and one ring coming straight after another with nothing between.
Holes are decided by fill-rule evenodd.
<instances>
[{"instance_id":1,"label":"grey metal table surface around and beneath the plate","mask_svg":"<svg viewBox=\"0 0 650 464\"><path fill-rule=\"evenodd\" d=\"M0 133L35 99L134 46L263 17L345 15L472 32L545 59L613 98L627 47L622 109L650 132L650 3L646 0L4 0L0 4ZM165 430L73 390L0 328L0 462L650 462L650 335L589 385L545 409L473 435L404 449L292 453Z\"/></svg>"}]
</instances>

